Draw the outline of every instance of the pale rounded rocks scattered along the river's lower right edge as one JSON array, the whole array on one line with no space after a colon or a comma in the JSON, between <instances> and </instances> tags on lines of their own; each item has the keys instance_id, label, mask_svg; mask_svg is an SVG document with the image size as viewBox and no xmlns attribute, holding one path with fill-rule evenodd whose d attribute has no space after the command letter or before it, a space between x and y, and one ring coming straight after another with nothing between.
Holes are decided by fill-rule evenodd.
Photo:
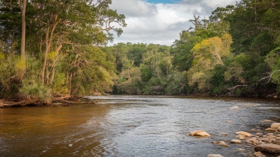
<instances>
[{"instance_id":1,"label":"pale rounded rocks scattered along the river's lower right edge","mask_svg":"<svg viewBox=\"0 0 280 157\"><path fill-rule=\"evenodd\" d=\"M264 120L269 122L270 120ZM235 132L236 139L232 139L229 144L225 141L212 141L212 144L229 147L230 144L240 144L244 148L238 148L238 151L248 151L248 156L256 157L280 157L280 123L272 123L270 128L264 130L251 130L252 134L246 131ZM225 134L226 135L226 134ZM206 131L198 130L190 132L189 136L209 137ZM209 154L208 157L224 157L220 154ZM225 156L226 157L226 156Z\"/></svg>"}]
</instances>

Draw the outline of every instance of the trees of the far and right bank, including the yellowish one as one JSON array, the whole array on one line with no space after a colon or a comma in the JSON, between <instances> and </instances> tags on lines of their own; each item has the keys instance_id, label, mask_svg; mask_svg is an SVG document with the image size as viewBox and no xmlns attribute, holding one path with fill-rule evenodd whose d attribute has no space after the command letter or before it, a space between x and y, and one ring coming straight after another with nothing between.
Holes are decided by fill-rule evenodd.
<instances>
[{"instance_id":1,"label":"trees of the far and right bank, including the yellowish one","mask_svg":"<svg viewBox=\"0 0 280 157\"><path fill-rule=\"evenodd\" d=\"M217 8L171 47L119 43L114 94L264 97L280 92L280 2L243 0Z\"/></svg>"}]
</instances>

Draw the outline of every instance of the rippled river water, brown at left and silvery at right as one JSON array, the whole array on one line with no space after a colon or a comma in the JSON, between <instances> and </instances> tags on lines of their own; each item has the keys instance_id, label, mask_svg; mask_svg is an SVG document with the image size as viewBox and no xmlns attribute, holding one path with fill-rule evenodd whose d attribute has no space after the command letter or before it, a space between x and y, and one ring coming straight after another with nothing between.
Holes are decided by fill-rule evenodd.
<instances>
[{"instance_id":1,"label":"rippled river water, brown at left and silvery at right","mask_svg":"<svg viewBox=\"0 0 280 157\"><path fill-rule=\"evenodd\" d=\"M89 98L96 103L0 109L0 156L248 156L253 148L229 144L235 132L280 121L277 99ZM200 129L211 136L188 136Z\"/></svg>"}]
</instances>

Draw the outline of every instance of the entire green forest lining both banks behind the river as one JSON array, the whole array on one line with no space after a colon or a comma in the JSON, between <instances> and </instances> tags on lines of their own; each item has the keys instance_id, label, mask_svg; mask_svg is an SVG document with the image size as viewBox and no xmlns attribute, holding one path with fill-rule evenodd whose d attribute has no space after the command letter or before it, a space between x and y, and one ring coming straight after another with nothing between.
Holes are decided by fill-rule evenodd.
<instances>
[{"instance_id":1,"label":"entire green forest lining both banks behind the river","mask_svg":"<svg viewBox=\"0 0 280 157\"><path fill-rule=\"evenodd\" d=\"M171 46L108 46L126 26L111 2L0 0L0 99L280 94L280 1L242 0L209 18L194 15Z\"/></svg>"}]
</instances>

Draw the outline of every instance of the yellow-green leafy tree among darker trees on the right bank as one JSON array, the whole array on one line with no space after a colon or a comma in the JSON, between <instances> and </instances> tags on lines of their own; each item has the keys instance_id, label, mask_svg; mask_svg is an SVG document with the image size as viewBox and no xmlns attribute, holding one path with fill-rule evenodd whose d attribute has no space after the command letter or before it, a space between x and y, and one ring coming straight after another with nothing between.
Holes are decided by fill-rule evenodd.
<instances>
[{"instance_id":1,"label":"yellow-green leafy tree among darker trees on the right bank","mask_svg":"<svg viewBox=\"0 0 280 157\"><path fill-rule=\"evenodd\" d=\"M190 85L198 83L199 89L210 88L211 71L216 65L225 65L223 60L230 55L230 43L231 36L224 34L221 38L203 40L193 47L193 66L188 70Z\"/></svg>"}]
</instances>

